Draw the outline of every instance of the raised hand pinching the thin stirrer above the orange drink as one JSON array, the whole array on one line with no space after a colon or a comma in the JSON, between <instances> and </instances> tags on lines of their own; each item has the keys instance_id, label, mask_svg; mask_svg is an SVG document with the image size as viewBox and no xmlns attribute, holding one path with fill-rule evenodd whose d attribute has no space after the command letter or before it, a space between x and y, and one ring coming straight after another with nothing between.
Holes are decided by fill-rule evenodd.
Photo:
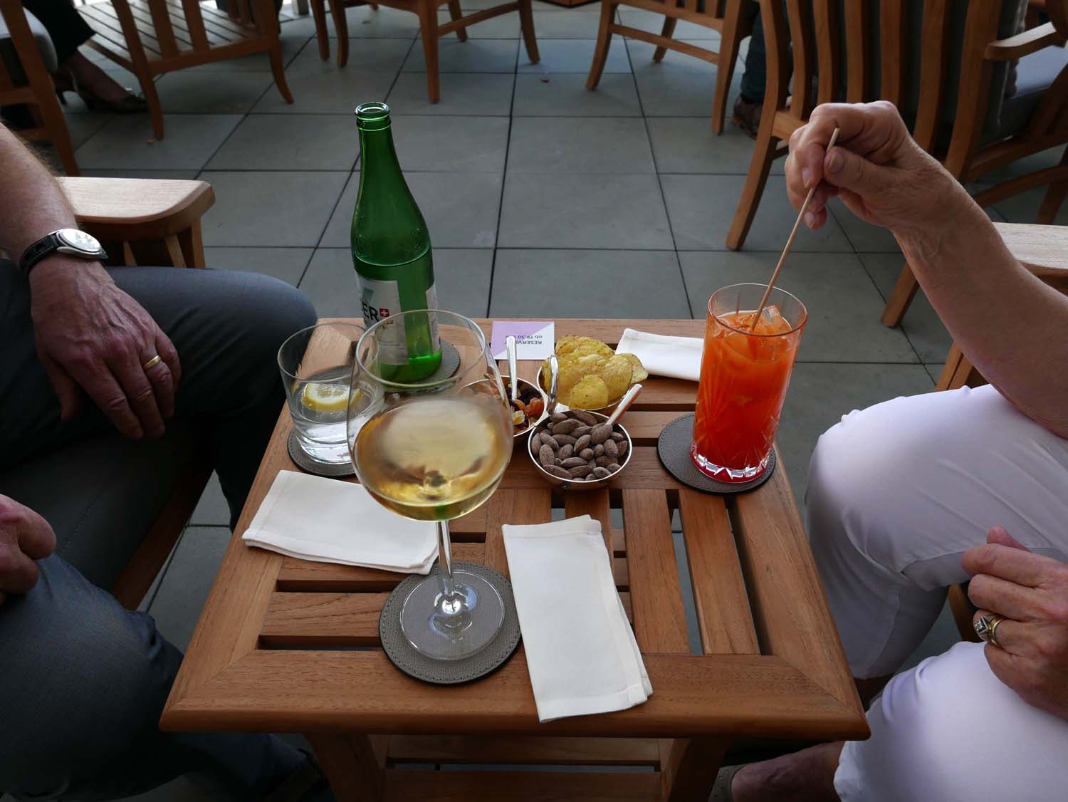
<instances>
[{"instance_id":1,"label":"raised hand pinching the thin stirrer above the orange drink","mask_svg":"<svg viewBox=\"0 0 1068 802\"><path fill-rule=\"evenodd\" d=\"M838 140L828 152L835 128ZM959 206L954 199L967 195L885 100L819 106L789 145L786 188L795 208L818 186L805 214L810 229L827 221L827 202L838 195L862 220L910 237L945 224Z\"/></svg>"}]
</instances>

